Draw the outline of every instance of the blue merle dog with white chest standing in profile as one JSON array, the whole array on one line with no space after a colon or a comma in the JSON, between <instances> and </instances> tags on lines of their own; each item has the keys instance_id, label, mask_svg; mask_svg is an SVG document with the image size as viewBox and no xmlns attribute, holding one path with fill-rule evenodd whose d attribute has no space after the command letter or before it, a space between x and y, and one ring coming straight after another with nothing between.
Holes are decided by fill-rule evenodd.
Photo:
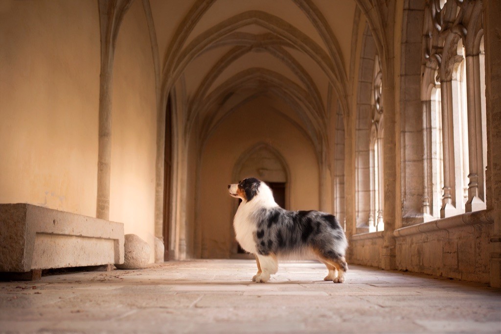
<instances>
[{"instance_id":1,"label":"blue merle dog with white chest standing in profile","mask_svg":"<svg viewBox=\"0 0 501 334\"><path fill-rule=\"evenodd\" d=\"M253 281L267 282L277 273L278 258L296 256L315 256L324 263L329 270L324 280L345 281L348 241L336 217L285 210L275 203L267 184L255 178L228 185L228 191L242 200L233 227L240 246L256 256L258 273Z\"/></svg>"}]
</instances>

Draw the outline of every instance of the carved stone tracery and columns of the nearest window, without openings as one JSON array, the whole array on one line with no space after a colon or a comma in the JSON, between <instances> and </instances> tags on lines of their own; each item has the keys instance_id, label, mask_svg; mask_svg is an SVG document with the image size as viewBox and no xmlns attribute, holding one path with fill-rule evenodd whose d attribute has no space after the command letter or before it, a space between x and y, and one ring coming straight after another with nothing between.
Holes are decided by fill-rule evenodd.
<instances>
[{"instance_id":1,"label":"carved stone tracery and columns of the nearest window, without openings","mask_svg":"<svg viewBox=\"0 0 501 334\"><path fill-rule=\"evenodd\" d=\"M440 216L448 217L461 212L485 208L484 169L482 158L482 106L480 105L479 55L482 29L481 0L429 0L425 8L423 32L423 101L430 101L429 88L441 91L442 144L444 186ZM464 52L461 51L461 43ZM459 50L459 52L458 52ZM468 145L463 152L454 149L454 140L459 133L458 110L453 108L453 73L457 64L466 61L467 133ZM432 73L436 77L431 78ZM433 81L439 82L436 85ZM428 108L429 110L429 108ZM456 127L456 128L454 128ZM426 132L426 131L425 131ZM426 135L426 134L425 134ZM457 146L457 145L456 145ZM469 150L467 149L469 148ZM468 153L469 151L469 153ZM460 163L459 155L468 154L469 175L468 200L462 208L460 189L461 176L455 175L455 166ZM425 182L427 182L425 180ZM429 193L429 192L428 192ZM423 203L429 203L425 195ZM424 208L424 212L429 209Z\"/></svg>"}]
</instances>

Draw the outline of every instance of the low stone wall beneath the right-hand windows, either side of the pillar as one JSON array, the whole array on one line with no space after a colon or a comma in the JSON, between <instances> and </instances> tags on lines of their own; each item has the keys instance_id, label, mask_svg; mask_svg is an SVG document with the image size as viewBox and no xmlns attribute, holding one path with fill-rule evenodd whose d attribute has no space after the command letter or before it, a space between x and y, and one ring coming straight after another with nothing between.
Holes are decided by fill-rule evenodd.
<instances>
[{"instance_id":1,"label":"low stone wall beneath the right-hand windows, either side of the pillar","mask_svg":"<svg viewBox=\"0 0 501 334\"><path fill-rule=\"evenodd\" d=\"M395 267L495 285L492 223L492 212L483 210L395 230ZM379 232L352 236L349 263L383 268L383 240Z\"/></svg>"}]
</instances>

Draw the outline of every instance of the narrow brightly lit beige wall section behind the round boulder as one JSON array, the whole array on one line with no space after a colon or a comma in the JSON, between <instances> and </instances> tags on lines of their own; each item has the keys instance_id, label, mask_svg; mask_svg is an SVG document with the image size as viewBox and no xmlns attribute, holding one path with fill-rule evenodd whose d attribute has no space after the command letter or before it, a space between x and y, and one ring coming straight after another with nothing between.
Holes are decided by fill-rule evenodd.
<instances>
[{"instance_id":1,"label":"narrow brightly lit beige wall section behind the round boulder","mask_svg":"<svg viewBox=\"0 0 501 334\"><path fill-rule=\"evenodd\" d=\"M154 260L155 73L141 2L125 15L113 67L110 220L151 246Z\"/></svg>"}]
</instances>

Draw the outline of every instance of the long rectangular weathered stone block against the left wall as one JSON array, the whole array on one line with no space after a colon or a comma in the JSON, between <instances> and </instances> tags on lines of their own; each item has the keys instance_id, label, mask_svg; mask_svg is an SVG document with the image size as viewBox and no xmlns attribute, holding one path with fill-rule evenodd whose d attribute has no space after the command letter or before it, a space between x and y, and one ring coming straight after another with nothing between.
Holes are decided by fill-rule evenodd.
<instances>
[{"instance_id":1,"label":"long rectangular weathered stone block against the left wall","mask_svg":"<svg viewBox=\"0 0 501 334\"><path fill-rule=\"evenodd\" d=\"M0 272L124 262L122 223L31 204L0 204Z\"/></svg>"}]
</instances>

